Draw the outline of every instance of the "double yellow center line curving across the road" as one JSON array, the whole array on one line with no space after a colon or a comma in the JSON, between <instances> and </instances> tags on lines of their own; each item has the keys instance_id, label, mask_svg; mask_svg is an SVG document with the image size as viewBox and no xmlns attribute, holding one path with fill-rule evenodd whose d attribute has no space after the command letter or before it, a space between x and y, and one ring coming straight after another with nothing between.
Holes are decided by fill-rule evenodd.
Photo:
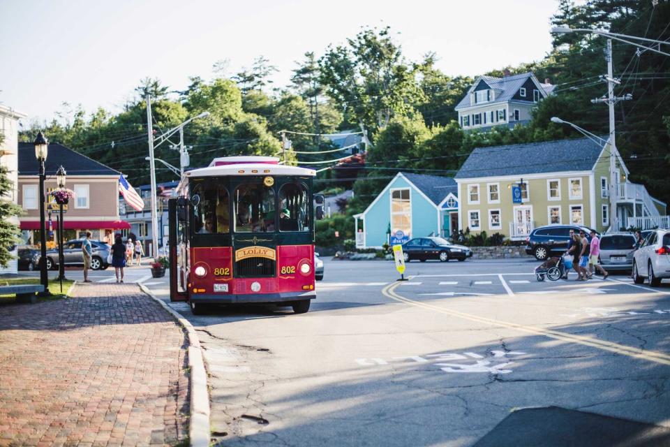
<instances>
[{"instance_id":1,"label":"double yellow center line curving across the road","mask_svg":"<svg viewBox=\"0 0 670 447\"><path fill-rule=\"evenodd\" d=\"M602 349L603 351L617 353L622 356L641 358L643 360L648 360L650 362L660 363L661 365L670 365L670 356L665 353L657 351L645 351L643 349L634 348L632 346L625 346L623 344L606 342L604 340L594 339L591 337L584 337L583 335L567 334L565 332L559 332L558 330L537 328L536 326L493 320L491 318L486 318L483 316L466 314L465 312L459 312L451 309L444 309L442 307L431 305L426 302L410 300L410 298L405 298L396 292L395 289L399 286L399 284L400 283L389 284L388 286L382 289L382 294L385 295L387 298L391 298L392 300L395 301L405 302L408 305L413 305L417 307L423 307L424 309L429 309L435 312L440 312L442 314L455 316L456 318L463 318L470 321L477 321L478 323L486 323L501 328L519 330L521 332L528 332L530 334L535 335L543 335L544 337L561 340L563 342L581 344L583 346L590 346L596 349Z\"/></svg>"}]
</instances>

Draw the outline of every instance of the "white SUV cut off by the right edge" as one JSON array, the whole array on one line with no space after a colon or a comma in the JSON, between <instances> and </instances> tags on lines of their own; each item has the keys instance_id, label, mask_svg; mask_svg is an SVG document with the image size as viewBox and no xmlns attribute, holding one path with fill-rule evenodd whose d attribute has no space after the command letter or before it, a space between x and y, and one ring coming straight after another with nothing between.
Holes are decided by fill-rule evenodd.
<instances>
[{"instance_id":1,"label":"white SUV cut off by the right edge","mask_svg":"<svg viewBox=\"0 0 670 447\"><path fill-rule=\"evenodd\" d=\"M661 279L670 278L670 230L653 230L633 255L633 280L658 287Z\"/></svg>"}]
</instances>

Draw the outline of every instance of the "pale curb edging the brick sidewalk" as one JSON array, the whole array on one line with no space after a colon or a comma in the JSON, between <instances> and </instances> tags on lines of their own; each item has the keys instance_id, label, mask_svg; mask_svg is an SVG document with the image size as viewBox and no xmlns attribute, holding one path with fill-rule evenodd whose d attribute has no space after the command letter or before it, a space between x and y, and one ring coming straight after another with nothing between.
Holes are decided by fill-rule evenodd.
<instances>
[{"instance_id":1,"label":"pale curb edging the brick sidewalk","mask_svg":"<svg viewBox=\"0 0 670 447\"><path fill-rule=\"evenodd\" d=\"M151 293L144 284L139 284L139 286L144 293L156 300L186 329L188 334L188 367L191 368L191 419L188 424L188 437L191 446L207 447L211 436L209 431L209 390L207 389L207 372L204 369L198 334L195 333L193 325L179 312L175 312L170 306L166 305L163 300Z\"/></svg>"}]
</instances>

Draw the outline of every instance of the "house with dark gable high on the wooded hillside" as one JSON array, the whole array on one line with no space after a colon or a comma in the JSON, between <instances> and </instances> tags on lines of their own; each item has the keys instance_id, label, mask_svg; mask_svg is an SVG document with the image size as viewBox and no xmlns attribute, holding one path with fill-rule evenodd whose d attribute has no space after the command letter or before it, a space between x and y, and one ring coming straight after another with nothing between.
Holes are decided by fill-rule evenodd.
<instances>
[{"instance_id":1,"label":"house with dark gable high on the wooded hillside","mask_svg":"<svg viewBox=\"0 0 670 447\"><path fill-rule=\"evenodd\" d=\"M555 86L543 84L533 73L478 76L466 96L456 105L462 129L486 130L494 126L514 127L530 121L530 111L549 96Z\"/></svg>"}]
</instances>

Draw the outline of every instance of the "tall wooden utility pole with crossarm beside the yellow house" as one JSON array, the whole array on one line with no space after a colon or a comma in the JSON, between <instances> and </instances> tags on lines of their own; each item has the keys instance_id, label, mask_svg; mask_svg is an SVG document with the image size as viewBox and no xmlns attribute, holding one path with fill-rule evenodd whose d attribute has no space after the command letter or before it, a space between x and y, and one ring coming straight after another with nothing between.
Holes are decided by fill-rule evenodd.
<instances>
[{"instance_id":1,"label":"tall wooden utility pole with crossarm beside the yellow house","mask_svg":"<svg viewBox=\"0 0 670 447\"><path fill-rule=\"evenodd\" d=\"M609 107L609 229L617 231L618 212L616 209L618 193L619 193L619 178L616 173L616 157L618 150L616 149L615 126L614 126L614 105L618 101L630 101L633 96L625 94L624 96L614 96L614 85L620 84L621 81L614 79L613 57L612 57L612 40L607 39L607 49L605 52L605 59L607 61L607 96L602 98L595 98L591 103L606 103ZM595 210L592 210L595 212Z\"/></svg>"}]
</instances>

